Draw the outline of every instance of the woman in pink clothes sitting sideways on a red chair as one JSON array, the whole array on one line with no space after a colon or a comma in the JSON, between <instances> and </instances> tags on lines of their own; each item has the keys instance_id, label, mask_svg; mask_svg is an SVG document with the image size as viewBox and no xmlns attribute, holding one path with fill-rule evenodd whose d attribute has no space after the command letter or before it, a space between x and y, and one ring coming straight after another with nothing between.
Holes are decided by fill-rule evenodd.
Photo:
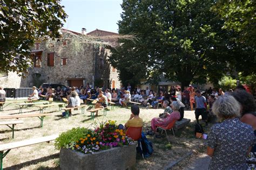
<instances>
[{"instance_id":1,"label":"woman in pink clothes sitting sideways on a red chair","mask_svg":"<svg viewBox=\"0 0 256 170\"><path fill-rule=\"evenodd\" d=\"M180 119L180 113L179 113L179 105L178 102L173 102L171 104L171 108L173 110L173 112L168 115L166 118L153 118L151 120L151 129L152 131L156 132L156 128L157 126L168 126L171 122L173 121L178 121L178 119Z\"/></svg>"}]
</instances>

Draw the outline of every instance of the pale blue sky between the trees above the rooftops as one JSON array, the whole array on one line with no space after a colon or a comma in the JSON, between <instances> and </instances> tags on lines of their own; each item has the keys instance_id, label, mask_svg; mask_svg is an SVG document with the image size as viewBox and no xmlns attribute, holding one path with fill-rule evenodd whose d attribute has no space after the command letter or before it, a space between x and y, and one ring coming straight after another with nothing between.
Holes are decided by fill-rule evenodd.
<instances>
[{"instance_id":1,"label":"pale blue sky between the trees above the rooftops","mask_svg":"<svg viewBox=\"0 0 256 170\"><path fill-rule=\"evenodd\" d=\"M85 28L87 33L99 29L118 33L122 0L62 0L60 3L69 16L64 29L81 32Z\"/></svg>"}]
</instances>

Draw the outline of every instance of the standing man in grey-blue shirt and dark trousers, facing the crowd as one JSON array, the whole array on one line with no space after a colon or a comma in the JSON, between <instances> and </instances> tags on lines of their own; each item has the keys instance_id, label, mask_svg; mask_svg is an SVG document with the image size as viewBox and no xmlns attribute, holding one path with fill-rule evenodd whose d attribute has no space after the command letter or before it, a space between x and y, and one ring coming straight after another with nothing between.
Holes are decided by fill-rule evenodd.
<instances>
[{"instance_id":1,"label":"standing man in grey-blue shirt and dark trousers, facing the crowd","mask_svg":"<svg viewBox=\"0 0 256 170\"><path fill-rule=\"evenodd\" d=\"M199 116L201 115L202 120L205 121L205 126L208 125L207 123L207 112L206 112L206 98L205 96L201 95L201 91L196 91L196 96L194 97L194 104L196 107L196 110L194 111L194 114L196 115L197 123L199 124Z\"/></svg>"}]
</instances>

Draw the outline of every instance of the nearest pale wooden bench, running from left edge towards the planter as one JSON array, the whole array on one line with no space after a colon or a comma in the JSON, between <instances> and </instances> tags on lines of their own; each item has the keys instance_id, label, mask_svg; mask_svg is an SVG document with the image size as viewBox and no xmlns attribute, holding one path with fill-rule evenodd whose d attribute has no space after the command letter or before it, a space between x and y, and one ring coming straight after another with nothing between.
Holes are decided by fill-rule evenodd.
<instances>
[{"instance_id":1,"label":"nearest pale wooden bench, running from left edge towards the planter","mask_svg":"<svg viewBox=\"0 0 256 170\"><path fill-rule=\"evenodd\" d=\"M12 143L7 144L1 144L0 145L0 163L1 163L1 170L3 169L3 158L10 152L10 150L14 148L24 147L24 146L30 146L40 143L50 143L50 141L55 140L58 137L58 134L51 135L51 136L45 136L41 138L33 138L28 140L22 140L22 141L16 141ZM6 151L6 152L4 152Z\"/></svg>"}]
</instances>

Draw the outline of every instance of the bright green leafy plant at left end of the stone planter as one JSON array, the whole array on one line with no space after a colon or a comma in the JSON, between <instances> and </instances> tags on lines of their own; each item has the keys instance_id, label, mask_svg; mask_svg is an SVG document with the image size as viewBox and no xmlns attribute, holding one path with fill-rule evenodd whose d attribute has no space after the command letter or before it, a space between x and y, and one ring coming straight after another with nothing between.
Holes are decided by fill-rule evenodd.
<instances>
[{"instance_id":1,"label":"bright green leafy plant at left end of the stone planter","mask_svg":"<svg viewBox=\"0 0 256 170\"><path fill-rule=\"evenodd\" d=\"M72 128L71 130L61 133L59 137L55 139L54 145L56 150L60 150L60 148L65 147L67 144L85 137L89 132L91 132L91 130L86 128Z\"/></svg>"}]
</instances>

